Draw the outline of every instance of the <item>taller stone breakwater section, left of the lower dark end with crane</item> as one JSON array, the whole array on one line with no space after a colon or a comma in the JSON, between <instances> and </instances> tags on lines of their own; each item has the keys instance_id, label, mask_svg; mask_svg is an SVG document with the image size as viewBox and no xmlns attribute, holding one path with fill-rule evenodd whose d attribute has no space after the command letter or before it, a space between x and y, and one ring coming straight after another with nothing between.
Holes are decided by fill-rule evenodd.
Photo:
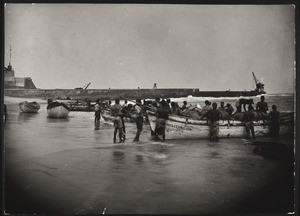
<instances>
[{"instance_id":1,"label":"taller stone breakwater section, left of the lower dark end with crane","mask_svg":"<svg viewBox=\"0 0 300 216\"><path fill-rule=\"evenodd\" d=\"M4 95L19 98L114 100L187 97L199 89L5 89Z\"/></svg>"}]
</instances>

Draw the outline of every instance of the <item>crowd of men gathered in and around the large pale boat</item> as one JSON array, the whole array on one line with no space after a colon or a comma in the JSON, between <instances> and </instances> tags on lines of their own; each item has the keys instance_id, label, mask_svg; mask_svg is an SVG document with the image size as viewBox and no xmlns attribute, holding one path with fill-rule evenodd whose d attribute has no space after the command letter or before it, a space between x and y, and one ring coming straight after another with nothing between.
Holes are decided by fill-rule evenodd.
<instances>
[{"instance_id":1,"label":"crowd of men gathered in and around the large pale boat","mask_svg":"<svg viewBox=\"0 0 300 216\"><path fill-rule=\"evenodd\" d=\"M242 108L245 112L243 112L242 121L245 122L247 138L250 138L250 133L253 138L255 138L254 132L254 107L253 107L253 99L244 99L241 98L235 103L236 112L242 112ZM246 105L248 107L246 108ZM169 118L169 114L177 114L180 115L182 111L188 108L187 102L183 102L183 106L179 107L177 103L171 102L170 99L164 100L160 98L156 98L154 101L143 101L143 104L140 99L135 101L135 105L127 104L125 101L124 105L120 105L120 100L116 99L114 105L110 105L111 116L113 117L114 123L114 137L113 141L116 142L117 134L119 134L120 142L124 142L126 139L125 136L125 124L124 118L131 118L131 112L133 111L136 114L136 127L137 132L133 141L139 141L140 133L143 130L143 122L144 122L144 113L146 109L152 110L156 113L156 128L154 130L154 137L158 139L158 136L162 136L162 141L165 141L165 126L166 120ZM220 103L220 107L217 106L217 103L206 100L205 106L202 108L203 115L201 119L207 118L207 122L210 126L210 138L218 139L219 132L219 120L224 119L224 113L228 114L229 118L234 114L234 108L230 103L227 103L225 106L224 102ZM256 104L255 110L259 116L270 119L271 128L270 135L272 137L278 137L279 135L279 112L277 111L276 105L272 106L272 111L267 114L268 104L265 102L265 97L261 96L261 100ZM100 113L101 107L99 100L97 100L95 105L95 123L100 121ZM264 119L264 118L262 118Z\"/></svg>"}]
</instances>

